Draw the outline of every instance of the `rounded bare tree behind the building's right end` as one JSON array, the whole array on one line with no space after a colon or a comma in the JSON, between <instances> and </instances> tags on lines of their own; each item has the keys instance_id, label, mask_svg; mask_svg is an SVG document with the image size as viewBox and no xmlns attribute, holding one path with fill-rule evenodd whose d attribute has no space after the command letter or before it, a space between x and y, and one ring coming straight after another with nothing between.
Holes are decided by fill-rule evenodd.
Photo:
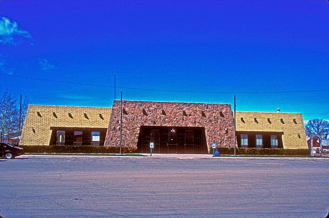
<instances>
[{"instance_id":1,"label":"rounded bare tree behind the building's right end","mask_svg":"<svg viewBox=\"0 0 329 218\"><path fill-rule=\"evenodd\" d=\"M329 122L322 119L309 120L305 126L305 132L307 137L319 135L321 139L325 140L329 133Z\"/></svg>"}]
</instances>

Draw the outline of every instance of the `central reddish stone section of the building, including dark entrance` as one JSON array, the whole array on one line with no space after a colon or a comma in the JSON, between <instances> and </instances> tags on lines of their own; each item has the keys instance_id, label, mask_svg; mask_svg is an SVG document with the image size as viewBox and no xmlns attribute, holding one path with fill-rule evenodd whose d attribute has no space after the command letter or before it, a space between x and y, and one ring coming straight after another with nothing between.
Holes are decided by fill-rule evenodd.
<instances>
[{"instance_id":1,"label":"central reddish stone section of the building, including dark entrance","mask_svg":"<svg viewBox=\"0 0 329 218\"><path fill-rule=\"evenodd\" d=\"M105 146L120 146L120 101L114 101ZM122 146L138 152L208 153L209 146L233 147L229 104L122 102Z\"/></svg>"}]
</instances>

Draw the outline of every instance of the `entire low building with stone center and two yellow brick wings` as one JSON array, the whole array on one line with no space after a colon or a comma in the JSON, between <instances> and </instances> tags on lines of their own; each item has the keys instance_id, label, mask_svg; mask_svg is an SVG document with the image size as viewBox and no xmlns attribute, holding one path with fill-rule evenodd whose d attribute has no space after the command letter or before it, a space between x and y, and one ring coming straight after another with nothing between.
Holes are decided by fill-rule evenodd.
<instances>
[{"instance_id":1,"label":"entire low building with stone center and two yellow brick wings","mask_svg":"<svg viewBox=\"0 0 329 218\"><path fill-rule=\"evenodd\" d=\"M120 146L120 101L112 108L29 105L20 145ZM137 152L209 153L234 147L229 104L122 102L121 145ZM236 144L306 148L302 114L236 112Z\"/></svg>"}]
</instances>

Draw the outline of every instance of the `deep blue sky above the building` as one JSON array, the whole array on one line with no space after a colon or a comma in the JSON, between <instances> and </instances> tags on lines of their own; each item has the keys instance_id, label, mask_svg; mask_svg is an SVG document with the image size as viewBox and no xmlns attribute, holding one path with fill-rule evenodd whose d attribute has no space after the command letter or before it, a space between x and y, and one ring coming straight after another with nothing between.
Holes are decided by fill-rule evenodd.
<instances>
[{"instance_id":1,"label":"deep blue sky above the building","mask_svg":"<svg viewBox=\"0 0 329 218\"><path fill-rule=\"evenodd\" d=\"M124 100L233 105L236 92L237 110L329 120L329 91L243 93L328 90L328 23L325 0L2 0L0 92L110 107L117 71Z\"/></svg>"}]
</instances>

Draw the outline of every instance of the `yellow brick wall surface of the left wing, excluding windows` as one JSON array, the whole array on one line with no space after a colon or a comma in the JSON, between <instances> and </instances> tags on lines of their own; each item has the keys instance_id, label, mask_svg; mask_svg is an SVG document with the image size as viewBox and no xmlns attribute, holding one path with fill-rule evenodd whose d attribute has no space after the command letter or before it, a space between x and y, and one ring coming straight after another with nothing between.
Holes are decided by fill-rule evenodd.
<instances>
[{"instance_id":1,"label":"yellow brick wall surface of the left wing, excluding windows","mask_svg":"<svg viewBox=\"0 0 329 218\"><path fill-rule=\"evenodd\" d=\"M42 117L38 116L38 112ZM53 112L57 118L53 116ZM111 108L29 105L20 145L49 145L52 131L50 127L107 128L110 114Z\"/></svg>"}]
</instances>

